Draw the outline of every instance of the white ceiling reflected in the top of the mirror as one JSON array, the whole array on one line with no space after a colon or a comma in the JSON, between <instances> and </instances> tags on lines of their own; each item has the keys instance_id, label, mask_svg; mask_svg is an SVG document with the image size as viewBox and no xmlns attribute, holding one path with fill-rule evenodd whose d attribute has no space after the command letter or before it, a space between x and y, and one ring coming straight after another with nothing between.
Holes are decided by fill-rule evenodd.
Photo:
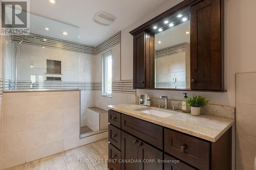
<instances>
[{"instance_id":1,"label":"white ceiling reflected in the top of the mirror","mask_svg":"<svg viewBox=\"0 0 256 170\"><path fill-rule=\"evenodd\" d=\"M165 30L155 35L155 49L160 50L169 46L174 46L183 42L190 42L190 21L186 21L178 26ZM158 43L161 41L161 43Z\"/></svg>"}]
</instances>

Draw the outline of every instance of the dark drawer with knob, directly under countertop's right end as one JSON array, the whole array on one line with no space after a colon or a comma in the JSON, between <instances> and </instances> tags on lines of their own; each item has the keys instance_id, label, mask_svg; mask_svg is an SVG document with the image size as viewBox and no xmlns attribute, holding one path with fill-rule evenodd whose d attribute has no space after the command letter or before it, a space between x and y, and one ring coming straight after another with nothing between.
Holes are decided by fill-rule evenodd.
<instances>
[{"instance_id":1,"label":"dark drawer with knob, directly under countertop's right end","mask_svg":"<svg viewBox=\"0 0 256 170\"><path fill-rule=\"evenodd\" d=\"M210 143L164 129L164 151L199 169L209 169Z\"/></svg>"}]
</instances>

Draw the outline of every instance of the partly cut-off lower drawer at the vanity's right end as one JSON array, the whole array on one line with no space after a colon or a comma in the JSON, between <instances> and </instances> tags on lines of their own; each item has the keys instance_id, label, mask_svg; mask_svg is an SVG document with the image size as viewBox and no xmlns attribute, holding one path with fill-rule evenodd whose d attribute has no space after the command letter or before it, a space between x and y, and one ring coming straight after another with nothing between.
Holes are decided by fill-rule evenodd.
<instances>
[{"instance_id":1,"label":"partly cut-off lower drawer at the vanity's right end","mask_svg":"<svg viewBox=\"0 0 256 170\"><path fill-rule=\"evenodd\" d=\"M184 163L182 163L180 160L177 160L169 155L164 154L164 169L165 170L196 170L193 167L190 167ZM168 161L168 162L167 162Z\"/></svg>"}]
</instances>

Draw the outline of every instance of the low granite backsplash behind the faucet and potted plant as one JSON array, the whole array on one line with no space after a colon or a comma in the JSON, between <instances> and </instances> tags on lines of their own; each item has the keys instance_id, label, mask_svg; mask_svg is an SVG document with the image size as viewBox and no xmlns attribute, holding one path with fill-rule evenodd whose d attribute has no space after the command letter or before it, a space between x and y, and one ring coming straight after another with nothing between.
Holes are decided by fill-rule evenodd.
<instances>
[{"instance_id":1,"label":"low granite backsplash behind the faucet and potted plant","mask_svg":"<svg viewBox=\"0 0 256 170\"><path fill-rule=\"evenodd\" d=\"M164 106L164 101L151 98L151 106L158 107L160 102L161 107ZM139 103L139 97L136 96L136 103ZM181 110L181 101L174 101L168 100L168 108L172 108L175 105L177 110ZM235 108L231 106L219 106L219 105L207 105L201 109L202 114L218 116L218 117L225 117L225 118L232 118L234 119Z\"/></svg>"}]
</instances>

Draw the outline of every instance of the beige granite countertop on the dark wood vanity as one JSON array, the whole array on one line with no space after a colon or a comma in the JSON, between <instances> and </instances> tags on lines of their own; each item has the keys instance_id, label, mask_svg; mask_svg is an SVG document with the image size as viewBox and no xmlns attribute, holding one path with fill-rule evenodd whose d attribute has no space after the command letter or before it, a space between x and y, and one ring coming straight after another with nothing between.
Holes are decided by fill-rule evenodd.
<instances>
[{"instance_id":1,"label":"beige granite countertop on the dark wood vanity","mask_svg":"<svg viewBox=\"0 0 256 170\"><path fill-rule=\"evenodd\" d=\"M212 115L193 116L190 113L181 111L165 110L156 107L148 107L153 110L170 112L168 117L159 117L152 114L146 114L137 109L147 108L137 104L121 104L108 106L109 109L127 114L147 122L161 125L166 128L177 130L189 135L193 135L211 142L217 141L233 124L234 119L223 118Z\"/></svg>"}]
</instances>

